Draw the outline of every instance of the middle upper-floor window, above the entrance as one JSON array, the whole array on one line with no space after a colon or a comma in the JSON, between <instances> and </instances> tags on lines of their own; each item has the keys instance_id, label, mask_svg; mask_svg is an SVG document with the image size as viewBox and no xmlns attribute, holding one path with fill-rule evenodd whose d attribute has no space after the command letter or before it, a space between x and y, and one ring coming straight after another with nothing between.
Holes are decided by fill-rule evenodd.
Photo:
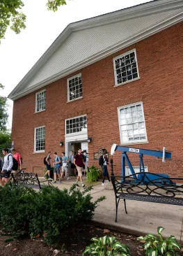
<instances>
[{"instance_id":1,"label":"middle upper-floor window, above the entrance","mask_svg":"<svg viewBox=\"0 0 183 256\"><path fill-rule=\"evenodd\" d=\"M67 101L73 101L83 96L81 73L67 79Z\"/></svg>"}]
</instances>

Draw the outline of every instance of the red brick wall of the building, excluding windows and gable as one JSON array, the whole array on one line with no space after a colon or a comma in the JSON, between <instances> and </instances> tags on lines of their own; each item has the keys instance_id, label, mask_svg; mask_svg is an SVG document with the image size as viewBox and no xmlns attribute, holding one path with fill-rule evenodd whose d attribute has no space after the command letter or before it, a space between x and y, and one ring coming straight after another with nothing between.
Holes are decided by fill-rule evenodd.
<instances>
[{"instance_id":1,"label":"red brick wall of the building, excluding windows and gable","mask_svg":"<svg viewBox=\"0 0 183 256\"><path fill-rule=\"evenodd\" d=\"M64 146L65 118L87 114L90 164L97 165L93 152L110 151L111 144L120 144L117 108L143 101L148 143L133 144L136 148L159 150L166 146L172 160L144 157L148 171L183 175L183 69L182 23L176 24L105 59L95 62L46 88L46 111L34 113L35 92L17 99L13 108L12 139L22 152L24 167L41 170L43 153L33 153L34 127L45 125L45 151L61 153ZM136 48L141 79L114 87L113 57ZM67 78L82 73L83 99L67 102ZM42 88L43 89L43 88ZM138 165L138 155L132 156ZM114 156L114 172L120 173L120 154ZM43 170L43 169L42 169Z\"/></svg>"}]
</instances>

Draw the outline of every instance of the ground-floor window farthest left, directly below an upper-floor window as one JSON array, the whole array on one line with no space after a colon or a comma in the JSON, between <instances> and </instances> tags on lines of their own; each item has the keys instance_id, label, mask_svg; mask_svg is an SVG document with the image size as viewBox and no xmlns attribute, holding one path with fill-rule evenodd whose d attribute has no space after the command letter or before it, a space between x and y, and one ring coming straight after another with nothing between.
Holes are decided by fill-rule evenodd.
<instances>
[{"instance_id":1,"label":"ground-floor window farthest left, directly below an upper-floor window","mask_svg":"<svg viewBox=\"0 0 183 256\"><path fill-rule=\"evenodd\" d=\"M45 151L45 126L35 128L34 152Z\"/></svg>"}]
</instances>

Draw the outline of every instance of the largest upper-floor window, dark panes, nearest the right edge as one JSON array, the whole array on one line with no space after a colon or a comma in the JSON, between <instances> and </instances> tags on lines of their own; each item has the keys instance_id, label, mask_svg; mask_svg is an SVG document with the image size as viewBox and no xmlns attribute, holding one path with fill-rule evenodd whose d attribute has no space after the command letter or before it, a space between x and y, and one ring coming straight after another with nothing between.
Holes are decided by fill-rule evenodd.
<instances>
[{"instance_id":1,"label":"largest upper-floor window, dark panes, nearest the right edge","mask_svg":"<svg viewBox=\"0 0 183 256\"><path fill-rule=\"evenodd\" d=\"M127 83L138 78L138 66L136 60L136 50L126 52L113 59L115 85Z\"/></svg>"}]
</instances>

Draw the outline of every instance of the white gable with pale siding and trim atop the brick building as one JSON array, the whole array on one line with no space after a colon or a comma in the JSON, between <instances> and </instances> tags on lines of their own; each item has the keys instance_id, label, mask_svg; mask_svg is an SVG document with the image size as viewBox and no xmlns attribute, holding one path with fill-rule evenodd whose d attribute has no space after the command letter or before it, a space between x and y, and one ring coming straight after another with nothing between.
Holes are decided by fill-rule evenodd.
<instances>
[{"instance_id":1,"label":"white gable with pale siding and trim atop the brick building","mask_svg":"<svg viewBox=\"0 0 183 256\"><path fill-rule=\"evenodd\" d=\"M69 24L8 97L23 97L181 20L183 0L157 0Z\"/></svg>"}]
</instances>

